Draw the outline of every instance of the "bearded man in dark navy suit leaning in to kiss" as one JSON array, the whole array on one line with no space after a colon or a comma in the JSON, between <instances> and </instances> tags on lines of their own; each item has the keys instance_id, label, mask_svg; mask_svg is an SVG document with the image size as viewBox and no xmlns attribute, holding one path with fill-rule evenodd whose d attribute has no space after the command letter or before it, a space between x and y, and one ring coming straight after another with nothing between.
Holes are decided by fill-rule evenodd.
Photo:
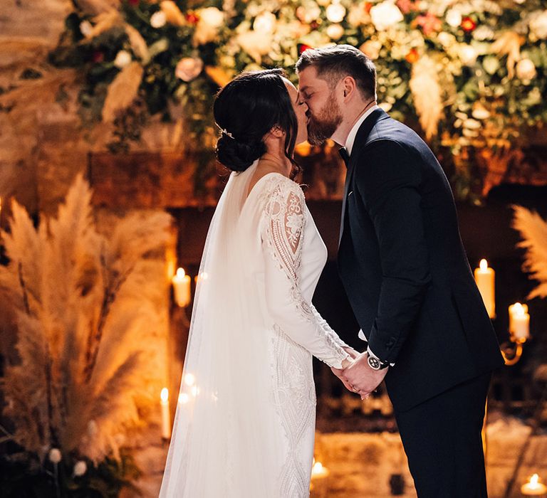
<instances>
[{"instance_id":1,"label":"bearded man in dark navy suit leaning in to kiss","mask_svg":"<svg viewBox=\"0 0 547 498\"><path fill-rule=\"evenodd\" d=\"M372 61L348 45L296 64L308 141L343 146L348 173L338 268L367 351L345 386L384 380L420 498L486 497L481 428L504 364L434 154L376 105Z\"/></svg>"}]
</instances>

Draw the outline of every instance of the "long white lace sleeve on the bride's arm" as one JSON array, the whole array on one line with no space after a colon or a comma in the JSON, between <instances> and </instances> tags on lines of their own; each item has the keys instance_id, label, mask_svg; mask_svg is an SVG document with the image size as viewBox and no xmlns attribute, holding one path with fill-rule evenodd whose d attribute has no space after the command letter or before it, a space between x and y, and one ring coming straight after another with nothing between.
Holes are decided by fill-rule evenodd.
<instances>
[{"instance_id":1,"label":"long white lace sleeve on the bride's arm","mask_svg":"<svg viewBox=\"0 0 547 498\"><path fill-rule=\"evenodd\" d=\"M261 224L264 244L266 302L276 325L329 366L340 369L350 356L347 346L310 302L300 287L304 198L298 185L288 180L276 184L266 202Z\"/></svg>"}]
</instances>

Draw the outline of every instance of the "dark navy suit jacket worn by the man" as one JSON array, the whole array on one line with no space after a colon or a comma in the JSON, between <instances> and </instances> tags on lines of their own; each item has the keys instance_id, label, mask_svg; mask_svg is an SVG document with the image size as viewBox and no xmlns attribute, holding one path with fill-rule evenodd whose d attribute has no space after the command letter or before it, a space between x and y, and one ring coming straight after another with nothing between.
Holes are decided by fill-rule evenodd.
<instances>
[{"instance_id":1,"label":"dark navy suit jacket worn by the man","mask_svg":"<svg viewBox=\"0 0 547 498\"><path fill-rule=\"evenodd\" d=\"M378 109L348 164L338 270L371 351L395 362L395 410L504 364L459 235L447 177L412 129Z\"/></svg>"}]
</instances>

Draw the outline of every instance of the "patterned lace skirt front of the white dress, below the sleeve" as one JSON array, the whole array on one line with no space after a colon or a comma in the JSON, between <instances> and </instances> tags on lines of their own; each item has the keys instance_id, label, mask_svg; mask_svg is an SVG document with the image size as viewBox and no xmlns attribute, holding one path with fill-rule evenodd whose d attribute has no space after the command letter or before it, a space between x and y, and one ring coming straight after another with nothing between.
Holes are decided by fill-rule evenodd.
<instances>
[{"instance_id":1,"label":"patterned lace skirt front of the white dress, below the sleeve","mask_svg":"<svg viewBox=\"0 0 547 498\"><path fill-rule=\"evenodd\" d=\"M278 325L273 329L273 403L288 443L279 476L279 496L304 498L309 496L310 469L301 460L301 445L313 429L316 416L311 354Z\"/></svg>"}]
</instances>

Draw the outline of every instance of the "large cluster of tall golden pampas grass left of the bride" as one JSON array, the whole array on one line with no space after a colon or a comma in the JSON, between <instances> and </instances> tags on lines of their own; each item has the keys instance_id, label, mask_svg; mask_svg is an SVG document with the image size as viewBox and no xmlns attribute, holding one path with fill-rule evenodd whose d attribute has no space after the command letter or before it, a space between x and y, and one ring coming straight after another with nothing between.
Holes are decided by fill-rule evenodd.
<instances>
[{"instance_id":1,"label":"large cluster of tall golden pampas grass left of the bride","mask_svg":"<svg viewBox=\"0 0 547 498\"><path fill-rule=\"evenodd\" d=\"M163 378L145 256L165 245L171 220L130 214L106 237L91 194L78 176L58 216L38 229L12 203L0 299L14 309L19 363L6 366L2 383L16 443L42 457L60 447L99 462L117 457L142 425Z\"/></svg>"}]
</instances>

